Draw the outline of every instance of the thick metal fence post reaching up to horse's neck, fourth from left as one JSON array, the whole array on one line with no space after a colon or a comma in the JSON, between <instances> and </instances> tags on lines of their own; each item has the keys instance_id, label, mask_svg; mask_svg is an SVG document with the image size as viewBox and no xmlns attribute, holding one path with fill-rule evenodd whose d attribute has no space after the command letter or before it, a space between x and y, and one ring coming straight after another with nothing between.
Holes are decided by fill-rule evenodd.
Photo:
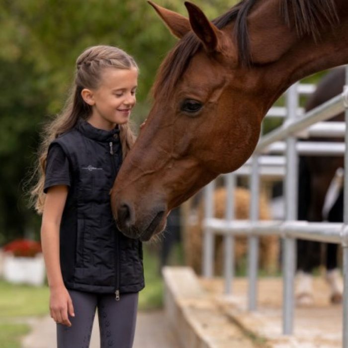
<instances>
[{"instance_id":1,"label":"thick metal fence post reaching up to horse's neck, fourth from left","mask_svg":"<svg viewBox=\"0 0 348 348\"><path fill-rule=\"evenodd\" d=\"M298 83L291 86L286 94L287 121L296 118L298 107ZM297 220L298 156L296 138L286 140L285 219ZM286 235L283 239L283 334L291 335L294 321L294 274L296 269L296 240Z\"/></svg>"}]
</instances>

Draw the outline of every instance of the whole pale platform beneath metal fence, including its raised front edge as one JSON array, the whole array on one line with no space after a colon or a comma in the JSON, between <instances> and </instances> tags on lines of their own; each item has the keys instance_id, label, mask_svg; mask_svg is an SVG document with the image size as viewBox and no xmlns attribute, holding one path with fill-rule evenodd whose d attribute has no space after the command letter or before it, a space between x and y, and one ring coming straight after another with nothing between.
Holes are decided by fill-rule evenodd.
<instances>
[{"instance_id":1,"label":"whole pale platform beneath metal fence, including its raised front edge","mask_svg":"<svg viewBox=\"0 0 348 348\"><path fill-rule=\"evenodd\" d=\"M189 267L166 267L164 274L167 317L183 348L342 348L342 305L329 302L321 277L314 304L295 309L294 334L285 336L280 277L259 278L258 310L249 312L245 278L234 279L233 295L226 295L222 278L198 278Z\"/></svg>"}]
</instances>

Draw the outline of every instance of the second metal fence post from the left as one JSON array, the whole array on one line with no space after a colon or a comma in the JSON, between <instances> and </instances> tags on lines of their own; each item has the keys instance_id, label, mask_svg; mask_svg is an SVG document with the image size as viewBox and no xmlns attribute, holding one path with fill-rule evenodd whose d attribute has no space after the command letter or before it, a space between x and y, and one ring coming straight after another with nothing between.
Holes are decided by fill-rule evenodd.
<instances>
[{"instance_id":1,"label":"second metal fence post from the left","mask_svg":"<svg viewBox=\"0 0 348 348\"><path fill-rule=\"evenodd\" d=\"M236 176L233 173L226 175L226 212L225 219L231 223L235 218L235 187ZM234 278L234 236L225 234L224 236L224 278L225 293L230 294L233 288Z\"/></svg>"}]
</instances>

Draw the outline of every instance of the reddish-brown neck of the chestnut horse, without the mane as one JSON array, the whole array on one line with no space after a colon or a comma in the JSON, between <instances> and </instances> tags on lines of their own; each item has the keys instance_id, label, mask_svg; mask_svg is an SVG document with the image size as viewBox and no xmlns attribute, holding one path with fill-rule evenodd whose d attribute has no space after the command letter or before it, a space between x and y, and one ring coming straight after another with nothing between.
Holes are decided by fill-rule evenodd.
<instances>
[{"instance_id":1,"label":"reddish-brown neck of the chestnut horse, without the mane","mask_svg":"<svg viewBox=\"0 0 348 348\"><path fill-rule=\"evenodd\" d=\"M348 1L335 2L339 23L321 28L317 42L299 37L282 21L279 0L257 2L248 18L253 62L276 91L274 99L306 76L348 63Z\"/></svg>"}]
</instances>

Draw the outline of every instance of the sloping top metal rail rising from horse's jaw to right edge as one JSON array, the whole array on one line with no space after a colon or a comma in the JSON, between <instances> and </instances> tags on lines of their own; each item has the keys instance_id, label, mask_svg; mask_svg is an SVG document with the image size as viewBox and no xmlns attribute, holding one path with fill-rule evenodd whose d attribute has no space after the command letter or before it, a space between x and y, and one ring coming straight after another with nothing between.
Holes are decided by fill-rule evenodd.
<instances>
[{"instance_id":1,"label":"sloping top metal rail rising from horse's jaw to right edge","mask_svg":"<svg viewBox=\"0 0 348 348\"><path fill-rule=\"evenodd\" d=\"M302 117L283 122L280 127L261 138L255 152L261 153L267 146L275 141L282 140L289 135L306 129L316 122L324 121L338 115L345 110L344 100L346 100L346 98L348 98L348 90L310 110Z\"/></svg>"}]
</instances>

